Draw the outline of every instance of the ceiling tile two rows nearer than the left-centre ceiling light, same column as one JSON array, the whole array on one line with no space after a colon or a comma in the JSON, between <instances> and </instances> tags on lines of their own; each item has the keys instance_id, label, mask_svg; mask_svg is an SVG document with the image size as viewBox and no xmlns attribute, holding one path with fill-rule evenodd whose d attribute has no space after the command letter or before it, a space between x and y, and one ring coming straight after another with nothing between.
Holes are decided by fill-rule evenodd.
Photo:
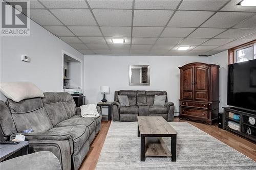
<instances>
[{"instance_id":1,"label":"ceiling tile two rows nearer than the left-centre ceiling light, same column","mask_svg":"<svg viewBox=\"0 0 256 170\"><path fill-rule=\"evenodd\" d=\"M132 10L94 9L100 26L132 26Z\"/></svg>"}]
</instances>

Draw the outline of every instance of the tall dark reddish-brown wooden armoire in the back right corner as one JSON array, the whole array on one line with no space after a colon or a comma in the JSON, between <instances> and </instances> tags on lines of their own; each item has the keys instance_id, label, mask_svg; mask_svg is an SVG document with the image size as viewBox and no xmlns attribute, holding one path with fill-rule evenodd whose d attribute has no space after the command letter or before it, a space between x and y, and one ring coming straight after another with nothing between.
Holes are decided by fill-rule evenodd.
<instances>
[{"instance_id":1,"label":"tall dark reddish-brown wooden armoire in the back right corner","mask_svg":"<svg viewBox=\"0 0 256 170\"><path fill-rule=\"evenodd\" d=\"M189 63L180 68L180 118L211 125L219 112L219 65Z\"/></svg>"}]
</instances>

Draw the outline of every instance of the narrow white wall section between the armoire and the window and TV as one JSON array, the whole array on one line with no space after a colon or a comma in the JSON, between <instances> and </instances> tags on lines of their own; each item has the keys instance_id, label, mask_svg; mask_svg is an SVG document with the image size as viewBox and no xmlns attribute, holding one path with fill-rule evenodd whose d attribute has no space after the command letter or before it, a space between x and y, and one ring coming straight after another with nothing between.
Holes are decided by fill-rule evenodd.
<instances>
[{"instance_id":1,"label":"narrow white wall section between the armoire and the window and TV","mask_svg":"<svg viewBox=\"0 0 256 170\"><path fill-rule=\"evenodd\" d=\"M227 106L227 50L209 57L210 64L220 65L220 112Z\"/></svg>"}]
</instances>

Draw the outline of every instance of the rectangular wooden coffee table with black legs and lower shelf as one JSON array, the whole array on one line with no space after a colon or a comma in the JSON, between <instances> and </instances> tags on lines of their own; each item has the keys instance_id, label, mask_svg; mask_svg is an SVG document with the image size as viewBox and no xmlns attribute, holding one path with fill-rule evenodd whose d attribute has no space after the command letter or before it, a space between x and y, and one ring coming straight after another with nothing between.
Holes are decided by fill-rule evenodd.
<instances>
[{"instance_id":1,"label":"rectangular wooden coffee table with black legs and lower shelf","mask_svg":"<svg viewBox=\"0 0 256 170\"><path fill-rule=\"evenodd\" d=\"M146 156L170 156L176 161L177 132L162 116L138 116L138 137L140 161L145 161ZM171 137L170 151L162 137Z\"/></svg>"}]
</instances>

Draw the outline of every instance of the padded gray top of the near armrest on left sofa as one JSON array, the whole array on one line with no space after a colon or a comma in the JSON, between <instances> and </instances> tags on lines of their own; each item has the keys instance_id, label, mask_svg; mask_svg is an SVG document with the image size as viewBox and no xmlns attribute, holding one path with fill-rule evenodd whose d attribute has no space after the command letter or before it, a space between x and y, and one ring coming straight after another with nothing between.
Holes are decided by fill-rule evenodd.
<instances>
[{"instance_id":1,"label":"padded gray top of the near armrest on left sofa","mask_svg":"<svg viewBox=\"0 0 256 170\"><path fill-rule=\"evenodd\" d=\"M14 133L10 136L10 140L15 138L15 135L22 134L26 140L71 140L70 134L63 132L32 132L32 133Z\"/></svg>"}]
</instances>

